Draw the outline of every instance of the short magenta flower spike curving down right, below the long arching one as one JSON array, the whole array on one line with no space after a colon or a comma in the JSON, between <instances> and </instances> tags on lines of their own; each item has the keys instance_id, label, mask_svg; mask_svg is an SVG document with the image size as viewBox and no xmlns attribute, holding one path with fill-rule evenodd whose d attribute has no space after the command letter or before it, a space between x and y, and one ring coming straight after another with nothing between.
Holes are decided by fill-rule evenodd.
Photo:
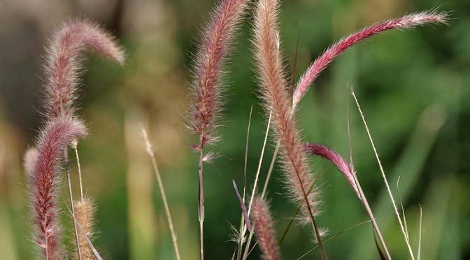
<instances>
[{"instance_id":1,"label":"short magenta flower spike curving down right, below the long arching one","mask_svg":"<svg viewBox=\"0 0 470 260\"><path fill-rule=\"evenodd\" d=\"M357 185L354 180L355 173L352 172L352 169L349 166L348 162L343 157L341 157L339 153L335 152L329 147L326 147L325 145L318 145L316 143L308 143L305 145L305 147L307 152L313 155L318 155L327 159L328 161L331 161L334 166L338 168L341 174L343 174L344 178L348 180L349 185L351 185L359 200L361 199L361 196L359 195L359 189L357 189Z\"/></svg>"}]
</instances>

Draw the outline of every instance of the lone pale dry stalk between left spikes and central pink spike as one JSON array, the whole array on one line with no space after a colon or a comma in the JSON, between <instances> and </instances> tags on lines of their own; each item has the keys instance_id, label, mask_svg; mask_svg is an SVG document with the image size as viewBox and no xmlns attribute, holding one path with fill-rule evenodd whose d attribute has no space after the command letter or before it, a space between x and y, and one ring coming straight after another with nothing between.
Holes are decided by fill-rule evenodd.
<instances>
[{"instance_id":1,"label":"lone pale dry stalk between left spikes and central pink spike","mask_svg":"<svg viewBox=\"0 0 470 260\"><path fill-rule=\"evenodd\" d=\"M166 220L168 220L168 226L169 226L170 233L171 233L171 240L173 241L173 248L175 250L176 259L180 260L181 259L180 258L180 250L178 250L178 242L176 240L176 232L175 232L175 229L173 228L173 220L171 219L170 208L168 206L168 200L166 200L166 193L165 193L165 189L163 187L162 177L160 176L160 172L158 170L157 161L155 160L155 154L153 152L152 145L150 144L150 140L148 140L147 131L145 131L145 129L143 129L143 128L142 128L142 134L143 134L143 138L145 140L145 145L147 147L147 149L146 149L147 153L148 153L148 155L150 155L150 159L152 160L153 171L155 173L155 177L157 177L157 183L158 183L158 187L159 187L159 190L160 190L160 195L162 195L162 201L163 201L163 205L164 205L164 208L165 208Z\"/></svg>"}]
</instances>

